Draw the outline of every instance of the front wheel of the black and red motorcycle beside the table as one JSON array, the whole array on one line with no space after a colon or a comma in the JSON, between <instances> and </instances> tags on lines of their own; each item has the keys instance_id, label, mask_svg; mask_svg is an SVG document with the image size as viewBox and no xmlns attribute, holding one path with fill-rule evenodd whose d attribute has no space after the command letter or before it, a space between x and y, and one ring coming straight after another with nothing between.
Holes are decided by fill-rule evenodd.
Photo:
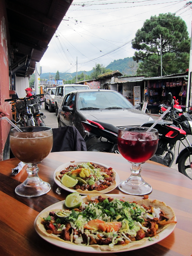
<instances>
[{"instance_id":1,"label":"front wheel of the black and red motorcycle beside the table","mask_svg":"<svg viewBox=\"0 0 192 256\"><path fill-rule=\"evenodd\" d=\"M178 163L178 170L180 173L184 174L185 176L187 176L189 179L192 180L192 168L191 168L191 164L192 164L192 152L190 152L190 156L189 153L186 152L180 159L179 163Z\"/></svg>"}]
</instances>

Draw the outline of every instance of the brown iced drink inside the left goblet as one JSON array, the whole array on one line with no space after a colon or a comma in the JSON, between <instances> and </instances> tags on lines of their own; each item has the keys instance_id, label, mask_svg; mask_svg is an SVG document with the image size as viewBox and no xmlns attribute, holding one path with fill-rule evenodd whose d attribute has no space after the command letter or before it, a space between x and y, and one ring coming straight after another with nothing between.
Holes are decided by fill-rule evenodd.
<instances>
[{"instance_id":1,"label":"brown iced drink inside the left goblet","mask_svg":"<svg viewBox=\"0 0 192 256\"><path fill-rule=\"evenodd\" d=\"M12 153L26 164L41 162L51 152L53 137L47 131L16 132L17 136L10 134L10 147Z\"/></svg>"}]
</instances>

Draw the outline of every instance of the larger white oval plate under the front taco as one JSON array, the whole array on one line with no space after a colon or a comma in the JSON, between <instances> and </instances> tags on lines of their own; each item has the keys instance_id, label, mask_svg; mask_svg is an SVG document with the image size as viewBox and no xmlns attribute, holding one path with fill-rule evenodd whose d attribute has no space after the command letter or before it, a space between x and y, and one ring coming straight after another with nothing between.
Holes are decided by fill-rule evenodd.
<instances>
[{"instance_id":1,"label":"larger white oval plate under the front taco","mask_svg":"<svg viewBox=\"0 0 192 256\"><path fill-rule=\"evenodd\" d=\"M116 197L118 199L123 199L123 200L129 201L129 202L138 201L138 200L142 199L139 196L131 196L131 195L108 194L108 196L111 197L111 198L115 198ZM85 196L83 196L83 198L84 197ZM39 230L36 227L36 221L37 221L39 215L41 215L43 212L48 212L48 211L51 212L54 209L63 209L64 202L65 201L60 201L60 202L58 202L56 204L52 204L51 206L47 207L46 209L44 209L42 212L40 212L37 215L37 217L35 219L34 225L35 225L35 229L36 229L36 232L38 233L38 235L41 236L44 240L46 240L47 242L49 242L51 244L54 244L54 245L59 246L61 248L72 250L72 251L92 252L92 253L113 253L113 251L101 251L100 248L95 248L95 247L90 247L90 246L83 246L83 245L77 245L77 244L68 244L68 243L59 241L59 240L57 240L55 238L52 238L52 237L49 237L49 236L44 236L44 235L42 235L39 232ZM176 221L176 217L175 217L174 220ZM132 247L130 247L128 249L122 249L122 250L118 250L118 251L114 251L114 252L116 253L116 252L132 251L132 250L140 249L140 248L152 245L152 244L156 244L157 242L163 240L165 237L169 236L172 233L173 229L175 228L175 225L176 225L175 223L171 223L167 228L165 228L158 235L153 237L152 238L153 241L146 240L143 244L134 245L134 246L132 246Z\"/></svg>"}]
</instances>

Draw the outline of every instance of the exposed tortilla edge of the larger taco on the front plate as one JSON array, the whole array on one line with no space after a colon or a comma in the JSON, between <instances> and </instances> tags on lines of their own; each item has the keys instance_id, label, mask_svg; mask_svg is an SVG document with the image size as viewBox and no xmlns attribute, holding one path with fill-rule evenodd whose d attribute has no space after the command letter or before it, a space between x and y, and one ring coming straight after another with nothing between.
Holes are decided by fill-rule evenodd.
<instances>
[{"instance_id":1,"label":"exposed tortilla edge of the larger taco on the front plate","mask_svg":"<svg viewBox=\"0 0 192 256\"><path fill-rule=\"evenodd\" d=\"M83 202L86 202L86 201L90 201L90 198L92 200L94 200L95 198L97 198L100 194L98 194L98 191L97 191L97 194L93 194L91 196L86 196L85 198L83 198ZM104 198L108 198L109 195L102 195L102 197ZM159 200L151 200L151 199L143 199L143 200L139 200L137 201L138 205L142 205L142 204L145 204L147 207L149 207L149 205L152 205L153 207L155 208L161 208L161 210L164 211L165 213L165 216L167 218L169 218L169 220L173 220L174 217L175 217L175 213L174 211L172 210L172 208L170 206L167 206L164 202L161 202ZM65 207L64 207L65 208ZM53 212L58 212L60 211L60 209L55 209L55 210L52 210ZM41 224L41 221L43 220L43 218L47 218L48 215L49 215L49 212L44 212L42 213L37 221L36 221L36 227L38 228L39 232L45 236L49 236L49 237L52 237L54 239L57 239L57 240L60 240L64 243L69 243L69 244L74 244L76 245L75 243L71 243L70 241L65 241L55 235L51 235L51 234L48 234L46 232L46 229L44 227L43 224ZM169 221L168 220L168 221ZM168 227L170 224L167 224L163 227L159 227L159 229L157 230L156 234L160 233L161 231L163 231L166 227ZM131 246L134 246L134 245L140 245L140 244L143 244L146 240L148 240L148 237L144 237L143 239L141 240L138 240L138 241L133 241L133 242L130 242L129 244L119 244L119 245L115 245L113 248L109 248L108 245L98 245L98 244L95 244L95 245L88 245L88 246L91 246L91 247L100 247L100 250L102 251L119 251L121 249L128 249L130 248Z\"/></svg>"}]
</instances>

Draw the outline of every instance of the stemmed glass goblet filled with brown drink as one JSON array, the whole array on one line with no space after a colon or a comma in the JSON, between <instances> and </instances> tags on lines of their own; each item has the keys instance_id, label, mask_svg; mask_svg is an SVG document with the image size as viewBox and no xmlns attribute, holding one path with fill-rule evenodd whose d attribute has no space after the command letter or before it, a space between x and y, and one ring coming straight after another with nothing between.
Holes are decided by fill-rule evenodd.
<instances>
[{"instance_id":1,"label":"stemmed glass goblet filled with brown drink","mask_svg":"<svg viewBox=\"0 0 192 256\"><path fill-rule=\"evenodd\" d=\"M12 153L20 161L28 164L27 179L15 189L19 196L41 196L47 193L51 186L38 176L37 164L49 155L53 145L53 134L50 127L21 127L22 132L15 128L10 132L10 147Z\"/></svg>"}]
</instances>

